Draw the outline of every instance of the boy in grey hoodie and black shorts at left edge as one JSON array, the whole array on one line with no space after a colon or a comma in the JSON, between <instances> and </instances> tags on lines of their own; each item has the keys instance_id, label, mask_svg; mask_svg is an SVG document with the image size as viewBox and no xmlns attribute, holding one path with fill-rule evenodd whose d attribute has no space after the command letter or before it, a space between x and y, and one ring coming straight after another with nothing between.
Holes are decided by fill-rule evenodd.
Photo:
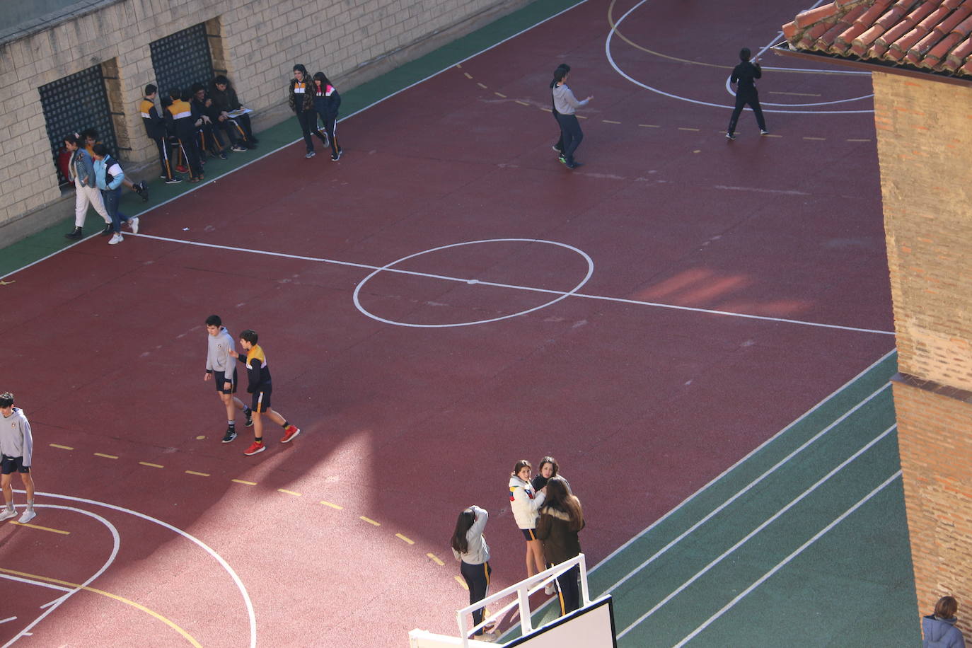
<instances>
[{"instance_id":1,"label":"boy in grey hoodie and black shorts at left edge","mask_svg":"<svg viewBox=\"0 0 972 648\"><path fill-rule=\"evenodd\" d=\"M0 486L3 487L3 500L6 504L0 512L0 522L17 517L14 508L14 489L10 482L14 472L20 473L23 490L27 492L27 508L17 520L24 525L37 515L34 513L34 478L30 476L31 455L34 451L34 437L30 434L30 423L23 410L14 407L14 394L0 393Z\"/></svg>"}]
</instances>

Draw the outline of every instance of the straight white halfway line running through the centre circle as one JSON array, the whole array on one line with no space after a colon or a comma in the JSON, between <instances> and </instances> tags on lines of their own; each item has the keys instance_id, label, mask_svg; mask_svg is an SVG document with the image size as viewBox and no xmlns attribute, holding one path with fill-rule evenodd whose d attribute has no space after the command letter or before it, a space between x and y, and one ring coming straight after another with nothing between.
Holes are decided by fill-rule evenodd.
<instances>
[{"instance_id":1,"label":"straight white halfway line running through the centre circle","mask_svg":"<svg viewBox=\"0 0 972 648\"><path fill-rule=\"evenodd\" d=\"M295 259L304 260L304 261L318 261L318 262L321 262L321 263L334 263L336 265L345 265L345 266L355 267L355 268L364 268L366 270L382 270L384 272L397 272L397 273L403 274L403 275L412 275L412 276L415 276L415 277L426 277L426 278L430 278L430 279L441 279L442 281L451 281L451 282L456 282L456 283L461 283L461 284L473 284L473 285L478 285L478 286L490 286L490 287L494 287L494 288L506 288L506 289L512 289L512 290L527 290L527 291L531 291L531 292L544 292L544 293L548 293L548 294L557 294L557 295L562 295L562 296L568 296L568 295L570 295L570 296L574 296L574 297L584 297L586 299L600 299L600 300L603 300L603 301L614 301L614 302L618 302L618 303L622 303L622 304L636 304L636 305L639 305L639 306L653 306L655 308L667 308L667 309L676 310L676 311L690 311L690 312L693 312L693 313L705 313L707 315L723 315L723 316L727 316L727 317L743 318L743 319L746 319L746 320L761 320L761 321L764 321L764 322L777 322L777 323L780 323L780 324L800 324L800 325L803 325L803 326L817 326L817 327L820 327L820 328L834 328L834 329L837 329L837 330L848 330L848 331L853 331L853 332L857 332L857 333L877 333L879 335L894 335L894 331L878 330L878 329L875 329L875 328L860 328L860 327L857 327L857 326L845 326L845 325L842 325L842 324L821 324L821 323L818 323L818 322L805 322L803 320L790 320L790 319L786 319L786 318L774 318L774 317L770 317L770 316L767 316L767 315L749 315L749 314L746 314L746 313L733 313L731 311L717 311L717 310L712 310L710 308L696 308L694 306L678 306L676 304L663 304L661 302L656 302L656 301L643 301L641 299L626 299L624 297L608 297L608 296L597 295L597 294L585 294L583 292L572 292L572 291L569 291L569 290L550 290L550 289L544 289L544 288L534 288L534 287L531 287L531 286L516 286L516 285L513 285L513 284L501 284L501 283L496 283L496 282L487 282L487 281L482 281L482 280L477 280L477 279L472 279L472 278L449 277L449 276L446 276L446 275L437 275L437 274L431 274L431 273L427 273L427 272L416 272L414 270L401 270L399 268L391 268L391 267L382 266L382 265L370 265L370 264L367 264L367 263L354 263L352 261L340 261L340 260L333 259L333 258L322 258L322 257L318 257L318 256L289 255L289 254L285 254L285 253L282 253L282 252L268 252L268 251L265 251L265 250L253 250L253 249L250 249L250 248L235 248L233 246L217 245L215 243L201 243L199 241L188 241L188 240L182 240L182 239L174 239L174 238L169 238L169 237L166 237L166 236L156 236L154 234L126 234L126 236L138 236L138 237L142 237L142 238L156 239L157 241L167 241L169 243L181 243L183 245L198 246L198 247L201 247L201 248L212 248L212 249L215 249L215 250L227 250L227 251L230 251L230 252L245 252L245 253L250 253L250 254L253 254L253 255L281 256L283 258L295 258ZM503 240L503 239L498 239L498 240ZM532 242L536 242L536 243L552 243L552 241L544 241L543 239L517 239L517 240L532 241ZM558 243L556 245L563 245L563 244L559 244ZM449 247L449 246L444 246L444 247ZM418 254L422 254L422 253L418 253ZM416 255L412 255L412 256L416 256ZM391 324L398 324L398 323L391 323Z\"/></svg>"}]
</instances>

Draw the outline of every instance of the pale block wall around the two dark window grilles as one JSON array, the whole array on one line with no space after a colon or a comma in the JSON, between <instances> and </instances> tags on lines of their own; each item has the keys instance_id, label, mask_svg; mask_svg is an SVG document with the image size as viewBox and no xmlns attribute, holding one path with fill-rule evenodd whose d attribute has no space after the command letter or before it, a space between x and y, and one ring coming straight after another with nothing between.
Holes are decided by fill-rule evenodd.
<instances>
[{"instance_id":1,"label":"pale block wall around the two dark window grilles","mask_svg":"<svg viewBox=\"0 0 972 648\"><path fill-rule=\"evenodd\" d=\"M397 53L400 64L527 2L105 0L21 35L0 45L0 141L7 153L0 156L0 238L5 225L19 221L18 231L29 231L22 221L64 202L40 85L92 65L109 69L118 78L109 96L112 110L122 113L115 118L119 145L131 149L121 157L137 165L156 155L135 106L144 86L155 82L149 43L159 38L207 22L214 68L226 70L241 99L257 112L259 129L287 116L279 108L295 62L323 69L342 89L350 88L386 71L380 62L389 54ZM408 53L400 56L403 49ZM63 211L66 216L71 206ZM0 248L8 242L0 240Z\"/></svg>"}]
</instances>

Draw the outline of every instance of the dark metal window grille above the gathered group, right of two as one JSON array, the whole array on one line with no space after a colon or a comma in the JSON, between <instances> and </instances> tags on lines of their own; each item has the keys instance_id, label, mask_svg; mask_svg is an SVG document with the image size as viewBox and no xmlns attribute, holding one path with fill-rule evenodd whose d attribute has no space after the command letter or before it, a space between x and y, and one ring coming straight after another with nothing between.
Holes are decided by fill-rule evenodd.
<instances>
[{"instance_id":1,"label":"dark metal window grille above the gathered group, right of two","mask_svg":"<svg viewBox=\"0 0 972 648\"><path fill-rule=\"evenodd\" d=\"M159 96L173 87L185 90L195 83L209 85L213 78L213 55L202 22L153 41L149 50Z\"/></svg>"}]
</instances>

